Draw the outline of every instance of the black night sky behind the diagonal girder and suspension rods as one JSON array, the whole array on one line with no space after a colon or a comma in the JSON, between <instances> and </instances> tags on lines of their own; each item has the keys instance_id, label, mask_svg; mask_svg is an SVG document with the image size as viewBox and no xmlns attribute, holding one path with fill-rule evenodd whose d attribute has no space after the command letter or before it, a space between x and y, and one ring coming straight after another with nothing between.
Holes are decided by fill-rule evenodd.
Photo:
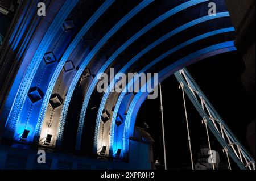
<instances>
[{"instance_id":1,"label":"black night sky behind the diagonal girder and suspension rods","mask_svg":"<svg viewBox=\"0 0 256 181\"><path fill-rule=\"evenodd\" d=\"M241 82L241 73L245 69L242 58L236 52L220 54L197 62L188 68L197 85L207 96L213 107L251 153L246 141L246 127L255 119L254 100L250 100ZM182 98L182 91L174 75L162 82L164 127L166 135L167 167L179 169L191 167L187 128ZM197 152L208 145L205 125L201 117L185 95L194 165L197 163ZM154 160L159 158L163 163L162 123L160 96L158 99L147 99L138 113L137 126L148 125L148 132L155 140ZM209 129L208 129L209 130ZM209 131L210 132L210 131ZM227 162L226 156L216 138L210 133L212 149L220 154L221 162ZM232 163L232 169L236 165Z\"/></svg>"}]
</instances>

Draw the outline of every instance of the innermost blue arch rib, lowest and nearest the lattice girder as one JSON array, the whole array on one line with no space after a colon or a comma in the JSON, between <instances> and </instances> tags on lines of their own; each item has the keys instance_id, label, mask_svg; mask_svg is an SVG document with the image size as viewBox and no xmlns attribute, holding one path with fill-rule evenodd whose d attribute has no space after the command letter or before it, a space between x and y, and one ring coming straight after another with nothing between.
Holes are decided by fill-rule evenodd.
<instances>
[{"instance_id":1,"label":"innermost blue arch rib, lowest and nearest the lattice girder","mask_svg":"<svg viewBox=\"0 0 256 181\"><path fill-rule=\"evenodd\" d=\"M159 81L163 81L165 78L169 77L170 75L174 74L176 71L178 71L181 68L184 68L185 66L188 66L192 64L193 62L203 60L205 58L215 56L216 54L221 54L225 52L232 52L236 50L234 47L234 41L227 41L224 43L212 45L210 47L198 50L197 52L194 52L192 54L189 54L188 56L181 58L180 60L174 62L174 64L171 64L167 68L164 68L159 73ZM150 79L152 81L152 79ZM143 85L146 86L146 85ZM123 145L122 145L122 156L127 157L127 153L129 151L129 137L134 132L134 125L135 125L135 119L136 115L139 110L139 106L144 102L146 99L147 93L143 93L139 91L133 101L131 102L129 106L129 110L127 112L126 120L125 120L125 128L123 131Z\"/></svg>"}]
</instances>

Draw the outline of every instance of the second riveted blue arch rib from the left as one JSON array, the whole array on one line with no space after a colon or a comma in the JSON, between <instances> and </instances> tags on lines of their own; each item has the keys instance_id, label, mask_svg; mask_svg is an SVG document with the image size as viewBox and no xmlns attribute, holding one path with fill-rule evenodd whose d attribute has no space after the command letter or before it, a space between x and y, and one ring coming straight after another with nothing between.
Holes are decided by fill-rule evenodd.
<instances>
[{"instance_id":1,"label":"second riveted blue arch rib from the left","mask_svg":"<svg viewBox=\"0 0 256 181\"><path fill-rule=\"evenodd\" d=\"M79 31L79 33L77 33L75 39L73 39L72 43L69 45L69 47L65 51L63 57L61 58L59 64L57 65L57 68L55 69L55 72L52 75L51 81L49 82L46 94L45 94L44 99L43 99L43 104L42 104L40 116L38 117L38 124L37 124L37 128L36 128L36 134L35 134L36 138L38 138L39 135L40 135L42 124L43 124L43 121L44 121L44 116L46 114L48 102L49 102L49 99L51 97L53 87L54 87L54 85L57 81L57 78L59 77L59 74L60 74L61 70L63 69L63 66L64 66L65 62L68 60L68 57L72 53L73 49L76 48L76 46L79 43L79 41L81 40L82 36L85 35L85 33L90 29L90 27L93 26L93 24L97 21L97 19L100 18L100 16L106 10L108 10L110 5L112 5L113 3L114 3L114 0L106 0L100 6L100 8L96 12L94 12L92 17L90 17L90 19L85 23L84 27L82 27L81 30ZM61 133L63 134L63 129L61 130ZM61 136L62 136L62 134L61 134Z\"/></svg>"}]
</instances>

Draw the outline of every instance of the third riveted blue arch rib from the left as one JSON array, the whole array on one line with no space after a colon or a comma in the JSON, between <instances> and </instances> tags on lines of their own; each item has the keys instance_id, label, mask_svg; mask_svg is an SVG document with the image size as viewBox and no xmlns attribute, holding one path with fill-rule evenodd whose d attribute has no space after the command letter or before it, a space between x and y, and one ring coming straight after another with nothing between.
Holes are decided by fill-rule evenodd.
<instances>
[{"instance_id":1,"label":"third riveted blue arch rib from the left","mask_svg":"<svg viewBox=\"0 0 256 181\"><path fill-rule=\"evenodd\" d=\"M127 23L131 18L133 18L139 11L144 9L147 5L149 5L151 2L154 0L144 0L139 5L137 5L133 10L131 10L127 15L125 15L115 26L108 32L102 39L97 43L97 45L92 49L92 51L88 54L88 56L85 58L84 61L82 61L82 64L77 70L77 73L75 77L73 78L73 81L71 83L71 86L69 87L67 96L65 98L65 102L63 105L63 109L61 110L61 115L60 115L60 126L59 126L59 131L57 132L57 145L61 144L61 139L63 137L63 131L64 131L64 126L65 126L65 120L67 117L67 112L68 112L68 107L69 103L71 101L71 97L73 94L73 90L75 89L76 83L78 79L81 76L82 71L84 71L85 67L87 66L88 62L92 60L94 55L100 50L100 48L114 35L115 32L117 32L125 23ZM112 1L111 1L112 2ZM46 105L47 106L47 105ZM79 127L79 129L81 129Z\"/></svg>"}]
</instances>

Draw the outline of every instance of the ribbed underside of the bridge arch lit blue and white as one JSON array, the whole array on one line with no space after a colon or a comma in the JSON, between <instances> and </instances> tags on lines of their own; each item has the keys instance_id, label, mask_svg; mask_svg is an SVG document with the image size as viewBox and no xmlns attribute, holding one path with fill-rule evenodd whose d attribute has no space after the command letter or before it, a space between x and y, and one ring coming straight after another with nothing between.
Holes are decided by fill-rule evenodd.
<instances>
[{"instance_id":1,"label":"ribbed underside of the bridge arch lit blue and white","mask_svg":"<svg viewBox=\"0 0 256 181\"><path fill-rule=\"evenodd\" d=\"M185 66L236 50L220 0L46 0L46 16L36 15L38 2L20 3L0 49L5 144L126 161L137 148L129 143L138 146L132 138L145 96L137 96L134 108L138 93L100 93L97 75L114 68L159 73L163 81ZM211 16L210 2L217 6ZM154 140L142 137L138 150L150 150Z\"/></svg>"}]
</instances>

